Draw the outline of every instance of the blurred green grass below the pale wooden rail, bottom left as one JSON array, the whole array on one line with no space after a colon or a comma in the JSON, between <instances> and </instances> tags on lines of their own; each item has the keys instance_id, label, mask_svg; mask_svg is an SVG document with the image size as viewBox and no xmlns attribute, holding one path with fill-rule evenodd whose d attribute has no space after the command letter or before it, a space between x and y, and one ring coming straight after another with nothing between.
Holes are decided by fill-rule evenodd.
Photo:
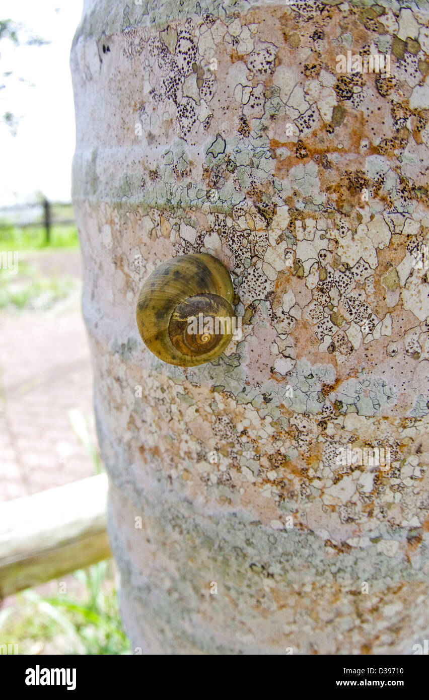
<instances>
[{"instance_id":1,"label":"blurred green grass below the pale wooden rail, bottom left","mask_svg":"<svg viewBox=\"0 0 429 700\"><path fill-rule=\"evenodd\" d=\"M0 610L0 644L17 644L19 654L131 654L118 614L113 562L100 561L73 577L76 594L42 597L27 590ZM64 582L57 583L61 591Z\"/></svg>"}]
</instances>

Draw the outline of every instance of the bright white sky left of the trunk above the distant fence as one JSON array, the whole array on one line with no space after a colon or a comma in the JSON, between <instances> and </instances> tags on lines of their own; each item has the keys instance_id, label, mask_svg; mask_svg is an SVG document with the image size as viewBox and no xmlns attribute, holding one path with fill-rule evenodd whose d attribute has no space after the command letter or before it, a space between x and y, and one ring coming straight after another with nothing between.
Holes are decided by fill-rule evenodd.
<instances>
[{"instance_id":1,"label":"bright white sky left of the trunk above the distant fence","mask_svg":"<svg viewBox=\"0 0 429 700\"><path fill-rule=\"evenodd\" d=\"M11 19L49 44L14 47L0 42L0 117L19 118L17 134L0 123L0 206L71 198L75 146L69 54L83 0L1 0L0 20ZM27 34L23 32L22 37ZM10 77L4 73L12 71Z\"/></svg>"}]
</instances>

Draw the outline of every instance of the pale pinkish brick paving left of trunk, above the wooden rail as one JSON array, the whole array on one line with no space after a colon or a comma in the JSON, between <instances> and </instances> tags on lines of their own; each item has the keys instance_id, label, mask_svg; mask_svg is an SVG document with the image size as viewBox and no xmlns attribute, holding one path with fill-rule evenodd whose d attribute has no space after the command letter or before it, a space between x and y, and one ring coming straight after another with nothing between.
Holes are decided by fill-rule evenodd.
<instances>
[{"instance_id":1,"label":"pale pinkish brick paving left of trunk, above the wooden rail","mask_svg":"<svg viewBox=\"0 0 429 700\"><path fill-rule=\"evenodd\" d=\"M78 251L34 260L43 274L80 279ZM80 291L50 311L2 312L0 324L0 501L93 475L69 419L69 410L78 409L95 440Z\"/></svg>"}]
</instances>

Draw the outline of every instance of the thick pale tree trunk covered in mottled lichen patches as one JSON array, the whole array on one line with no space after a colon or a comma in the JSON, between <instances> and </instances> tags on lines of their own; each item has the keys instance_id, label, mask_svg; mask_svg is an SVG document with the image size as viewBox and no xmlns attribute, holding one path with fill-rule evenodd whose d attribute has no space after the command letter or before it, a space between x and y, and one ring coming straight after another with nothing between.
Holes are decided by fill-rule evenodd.
<instances>
[{"instance_id":1,"label":"thick pale tree trunk covered in mottled lichen patches","mask_svg":"<svg viewBox=\"0 0 429 700\"><path fill-rule=\"evenodd\" d=\"M85 3L83 312L143 653L428 638L429 31L407 4ZM243 337L183 369L135 309L192 252L230 270Z\"/></svg>"}]
</instances>

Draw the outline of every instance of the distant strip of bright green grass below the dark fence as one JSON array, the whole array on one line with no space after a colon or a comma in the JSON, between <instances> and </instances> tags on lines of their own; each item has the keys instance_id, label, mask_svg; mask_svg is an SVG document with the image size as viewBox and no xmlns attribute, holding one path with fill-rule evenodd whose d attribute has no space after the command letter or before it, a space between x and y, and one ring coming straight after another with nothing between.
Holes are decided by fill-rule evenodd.
<instances>
[{"instance_id":1,"label":"distant strip of bright green grass below the dark fence","mask_svg":"<svg viewBox=\"0 0 429 700\"><path fill-rule=\"evenodd\" d=\"M19 228L8 226L0 229L0 251L34 251L45 248L78 248L78 231L74 224L52 225L50 243L46 243L46 232L43 227L31 226Z\"/></svg>"}]
</instances>

